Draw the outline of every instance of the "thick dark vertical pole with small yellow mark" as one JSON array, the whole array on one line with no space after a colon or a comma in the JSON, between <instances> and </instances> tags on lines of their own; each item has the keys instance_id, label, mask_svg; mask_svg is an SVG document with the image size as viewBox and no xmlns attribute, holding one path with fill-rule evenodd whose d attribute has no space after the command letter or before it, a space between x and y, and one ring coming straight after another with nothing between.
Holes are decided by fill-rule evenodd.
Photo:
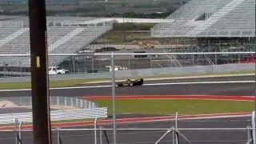
<instances>
[{"instance_id":1,"label":"thick dark vertical pole with small yellow mark","mask_svg":"<svg viewBox=\"0 0 256 144\"><path fill-rule=\"evenodd\" d=\"M51 144L46 1L29 0L34 144Z\"/></svg>"}]
</instances>

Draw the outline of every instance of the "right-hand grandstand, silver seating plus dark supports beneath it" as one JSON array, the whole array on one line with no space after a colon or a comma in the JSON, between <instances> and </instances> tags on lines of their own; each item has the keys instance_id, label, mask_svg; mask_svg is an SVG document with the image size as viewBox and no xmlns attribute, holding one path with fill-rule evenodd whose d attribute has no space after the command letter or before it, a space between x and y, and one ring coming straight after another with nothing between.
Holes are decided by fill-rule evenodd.
<instances>
[{"instance_id":1,"label":"right-hand grandstand, silver seating plus dark supports beneath it","mask_svg":"<svg viewBox=\"0 0 256 144\"><path fill-rule=\"evenodd\" d=\"M174 22L155 25L154 38L174 38L190 45L172 51L221 52L255 50L255 0L190 0L167 17ZM194 42L191 42L194 40ZM202 56L204 58L205 56ZM247 55L241 56L250 57ZM178 56L177 60L192 62L194 57ZM226 56L206 58L212 64L223 64ZM238 62L239 58L232 62Z\"/></svg>"}]
</instances>

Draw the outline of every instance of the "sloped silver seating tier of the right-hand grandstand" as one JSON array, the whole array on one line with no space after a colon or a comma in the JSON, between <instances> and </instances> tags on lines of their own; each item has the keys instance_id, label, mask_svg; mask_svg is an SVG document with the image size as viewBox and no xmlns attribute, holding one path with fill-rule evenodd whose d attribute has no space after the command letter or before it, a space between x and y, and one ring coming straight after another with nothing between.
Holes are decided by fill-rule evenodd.
<instances>
[{"instance_id":1,"label":"sloped silver seating tier of the right-hand grandstand","mask_svg":"<svg viewBox=\"0 0 256 144\"><path fill-rule=\"evenodd\" d=\"M191 0L168 18L153 37L255 37L255 0Z\"/></svg>"}]
</instances>

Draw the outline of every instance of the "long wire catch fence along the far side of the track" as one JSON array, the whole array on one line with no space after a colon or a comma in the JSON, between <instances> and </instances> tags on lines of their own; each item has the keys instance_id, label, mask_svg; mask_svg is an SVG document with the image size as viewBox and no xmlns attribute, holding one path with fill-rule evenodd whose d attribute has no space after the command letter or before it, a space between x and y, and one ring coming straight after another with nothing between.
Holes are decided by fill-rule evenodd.
<instances>
[{"instance_id":1,"label":"long wire catch fence along the far side of the track","mask_svg":"<svg viewBox=\"0 0 256 144\"><path fill-rule=\"evenodd\" d=\"M49 54L51 58L66 58L61 63L49 62L49 66L59 66L68 70L69 74L105 74L111 71L112 53L93 54ZM243 52L198 52L198 53L113 53L114 70L120 73L136 74L140 70L149 71L157 75L160 71L168 71L169 74L182 74L188 69L190 73L206 71L209 73L229 73L238 71L254 70L256 62L254 51ZM13 64L0 64L1 77L29 76L30 75L30 54L0 54L0 58ZM17 61L26 61L22 62ZM16 63L16 64L15 64ZM240 70L242 66L251 65L246 70ZM233 66L231 70L218 67ZM216 68L217 67L217 68ZM177 71L178 70L178 71ZM214 71L215 70L215 71ZM216 72L217 70L217 72ZM226 71L225 71L226 70ZM144 73L143 72L143 73ZM70 76L69 76L70 77ZM71 76L72 77L72 76Z\"/></svg>"}]
</instances>

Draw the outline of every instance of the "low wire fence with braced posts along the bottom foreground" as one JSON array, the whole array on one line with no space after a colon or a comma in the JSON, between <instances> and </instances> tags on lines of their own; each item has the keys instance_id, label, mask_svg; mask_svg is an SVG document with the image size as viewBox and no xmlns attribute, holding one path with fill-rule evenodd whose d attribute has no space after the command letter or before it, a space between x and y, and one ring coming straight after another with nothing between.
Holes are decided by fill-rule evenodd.
<instances>
[{"instance_id":1,"label":"low wire fence with braced posts along the bottom foreground","mask_svg":"<svg viewBox=\"0 0 256 144\"><path fill-rule=\"evenodd\" d=\"M209 144L253 144L255 131L255 114L247 114L239 118L176 118L164 122L122 123L116 128L117 143L209 143ZM85 128L52 129L54 144L62 143L113 143L110 124L102 125L95 119L93 126ZM4 130L5 137L0 136L0 142L15 141L15 135L23 144L32 143L32 131L28 129ZM18 142L17 142L18 143Z\"/></svg>"}]
</instances>

